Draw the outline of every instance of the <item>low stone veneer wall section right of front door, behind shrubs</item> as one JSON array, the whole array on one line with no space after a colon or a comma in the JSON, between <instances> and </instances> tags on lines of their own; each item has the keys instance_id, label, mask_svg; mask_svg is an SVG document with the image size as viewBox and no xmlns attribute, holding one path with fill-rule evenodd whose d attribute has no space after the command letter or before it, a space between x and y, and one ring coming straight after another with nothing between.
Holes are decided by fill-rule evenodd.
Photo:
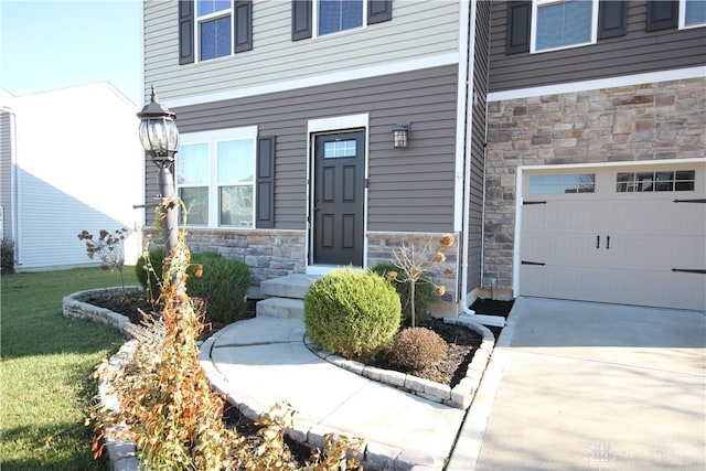
<instances>
[{"instance_id":1,"label":"low stone veneer wall section right of front door, behind shrubs","mask_svg":"<svg viewBox=\"0 0 706 471\"><path fill-rule=\"evenodd\" d=\"M418 233L368 233L367 235L367 266L374 267L382 261L393 261L393 251L400 247L403 242L406 247L414 246L416 254L421 254L425 247L428 247L428 257L420 257L426 261L432 257L438 247L438 240L445 234L418 234ZM435 283L446 287L446 293L441 300L449 302L458 302L458 283L459 274L459 235L451 234L456 237L456 243L443 251L446 261L442 264L434 264L430 272ZM443 271L450 270L450 276Z\"/></svg>"}]
</instances>

